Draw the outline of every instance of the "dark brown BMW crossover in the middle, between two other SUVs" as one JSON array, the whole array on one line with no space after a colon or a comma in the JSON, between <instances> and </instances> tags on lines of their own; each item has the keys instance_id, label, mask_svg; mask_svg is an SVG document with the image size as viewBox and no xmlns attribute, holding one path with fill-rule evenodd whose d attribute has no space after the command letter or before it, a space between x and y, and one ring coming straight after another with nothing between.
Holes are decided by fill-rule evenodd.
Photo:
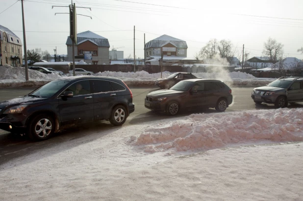
<instances>
[{"instance_id":1,"label":"dark brown BMW crossover in the middle, between two other SUVs","mask_svg":"<svg viewBox=\"0 0 303 201\"><path fill-rule=\"evenodd\" d=\"M197 108L224 112L231 103L231 89L224 82L204 79L181 81L171 89L153 91L145 99L146 108L169 115Z\"/></svg>"}]
</instances>

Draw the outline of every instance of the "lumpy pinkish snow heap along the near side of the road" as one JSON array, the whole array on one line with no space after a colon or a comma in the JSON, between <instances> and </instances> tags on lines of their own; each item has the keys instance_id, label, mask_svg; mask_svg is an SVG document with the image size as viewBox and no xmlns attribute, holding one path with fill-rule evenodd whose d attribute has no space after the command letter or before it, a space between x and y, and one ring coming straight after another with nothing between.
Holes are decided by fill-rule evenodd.
<instances>
[{"instance_id":1,"label":"lumpy pinkish snow heap along the near side of the road","mask_svg":"<svg viewBox=\"0 0 303 201\"><path fill-rule=\"evenodd\" d=\"M209 150L235 143L303 140L303 109L192 114L149 126L129 143L145 152Z\"/></svg>"}]
</instances>

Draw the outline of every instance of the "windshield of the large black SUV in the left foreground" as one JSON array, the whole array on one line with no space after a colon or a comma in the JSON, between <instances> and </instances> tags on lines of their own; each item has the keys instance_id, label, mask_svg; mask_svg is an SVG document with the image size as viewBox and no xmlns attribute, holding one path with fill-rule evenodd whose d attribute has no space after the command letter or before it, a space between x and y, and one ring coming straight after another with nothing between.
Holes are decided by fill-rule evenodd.
<instances>
[{"instance_id":1,"label":"windshield of the large black SUV in the left foreground","mask_svg":"<svg viewBox=\"0 0 303 201\"><path fill-rule=\"evenodd\" d=\"M51 81L42 87L34 90L33 92L29 93L29 96L36 96L42 98L49 98L53 96L58 90L60 90L63 86L69 83L69 80L55 80Z\"/></svg>"}]
</instances>

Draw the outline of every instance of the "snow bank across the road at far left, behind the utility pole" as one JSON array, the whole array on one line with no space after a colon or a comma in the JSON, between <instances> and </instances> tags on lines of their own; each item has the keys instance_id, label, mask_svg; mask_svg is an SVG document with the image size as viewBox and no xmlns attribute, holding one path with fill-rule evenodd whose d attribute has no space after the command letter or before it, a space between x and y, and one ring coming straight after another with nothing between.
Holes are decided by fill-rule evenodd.
<instances>
[{"instance_id":1,"label":"snow bank across the road at far left, behind the utility pole","mask_svg":"<svg viewBox=\"0 0 303 201\"><path fill-rule=\"evenodd\" d=\"M57 73L45 74L37 70L28 69L28 77L30 80L54 80L59 77ZM4 65L0 67L0 80L20 80L25 81L25 67L11 67Z\"/></svg>"}]
</instances>

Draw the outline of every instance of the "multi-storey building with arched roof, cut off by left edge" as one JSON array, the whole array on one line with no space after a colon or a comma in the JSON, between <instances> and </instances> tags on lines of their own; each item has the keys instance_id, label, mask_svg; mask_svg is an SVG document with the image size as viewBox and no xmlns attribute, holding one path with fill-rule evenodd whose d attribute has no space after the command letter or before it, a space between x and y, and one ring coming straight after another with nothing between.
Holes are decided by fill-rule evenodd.
<instances>
[{"instance_id":1,"label":"multi-storey building with arched roof, cut off by left edge","mask_svg":"<svg viewBox=\"0 0 303 201\"><path fill-rule=\"evenodd\" d=\"M22 65L22 43L20 38L8 28L0 25L0 66Z\"/></svg>"}]
</instances>

